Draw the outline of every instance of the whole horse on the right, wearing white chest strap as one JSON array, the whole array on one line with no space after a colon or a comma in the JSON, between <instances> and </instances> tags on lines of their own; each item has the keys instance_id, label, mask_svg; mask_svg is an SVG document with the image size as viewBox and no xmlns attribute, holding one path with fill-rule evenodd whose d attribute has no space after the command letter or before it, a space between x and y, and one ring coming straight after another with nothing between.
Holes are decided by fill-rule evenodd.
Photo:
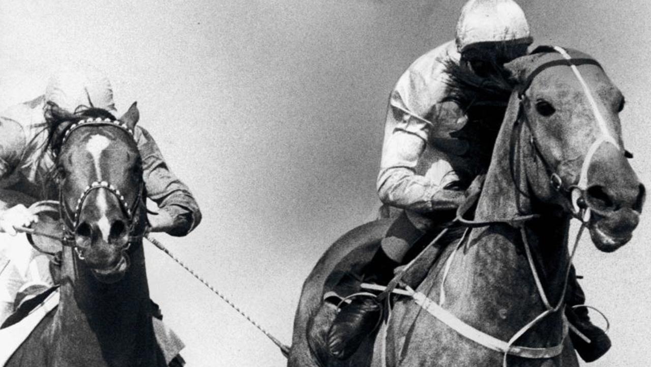
<instances>
[{"instance_id":1,"label":"whole horse on the right, wearing white chest strap","mask_svg":"<svg viewBox=\"0 0 651 367\"><path fill-rule=\"evenodd\" d=\"M445 248L417 293L394 299L379 333L336 360L324 340L337 312L322 302L324 282L378 246L389 223L341 237L305 281L288 366L578 365L562 312L570 219L612 252L630 241L644 203L621 136L624 99L578 51L541 48L506 68L513 92L474 223L459 224L469 228L464 239ZM433 316L440 309L451 316ZM549 349L524 358L514 345Z\"/></svg>"}]
</instances>

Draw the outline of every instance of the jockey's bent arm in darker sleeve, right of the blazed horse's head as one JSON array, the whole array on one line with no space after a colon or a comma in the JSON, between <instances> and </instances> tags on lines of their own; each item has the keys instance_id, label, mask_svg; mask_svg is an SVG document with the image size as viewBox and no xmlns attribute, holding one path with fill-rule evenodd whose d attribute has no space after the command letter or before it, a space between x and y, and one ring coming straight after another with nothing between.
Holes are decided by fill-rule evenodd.
<instances>
[{"instance_id":1,"label":"jockey's bent arm in darker sleeve, right of the blazed horse's head","mask_svg":"<svg viewBox=\"0 0 651 367\"><path fill-rule=\"evenodd\" d=\"M159 207L158 215L148 219L152 231L167 232L173 236L187 235L201 222L199 205L187 188L167 168L156 141L144 129L136 126L135 136L143 158L143 179L148 198Z\"/></svg>"}]
</instances>

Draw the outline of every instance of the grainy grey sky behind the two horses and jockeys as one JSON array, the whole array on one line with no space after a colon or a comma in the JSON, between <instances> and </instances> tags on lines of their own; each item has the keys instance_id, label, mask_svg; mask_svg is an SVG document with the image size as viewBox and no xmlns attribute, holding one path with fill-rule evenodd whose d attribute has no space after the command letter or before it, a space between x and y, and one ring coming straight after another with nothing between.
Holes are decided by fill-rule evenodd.
<instances>
[{"instance_id":1,"label":"grainy grey sky behind the two horses and jockeys","mask_svg":"<svg viewBox=\"0 0 651 367\"><path fill-rule=\"evenodd\" d=\"M383 117L411 61L454 36L461 0L3 1L0 108L49 73L92 63L193 190L204 220L158 238L281 340L303 279L377 205ZM651 5L519 1L538 44L590 53L626 95L633 166L651 184ZM651 204L650 204L651 205ZM614 254L575 261L609 316L613 349L591 366L651 364L651 218ZM189 366L284 366L275 345L148 245L152 298Z\"/></svg>"}]
</instances>

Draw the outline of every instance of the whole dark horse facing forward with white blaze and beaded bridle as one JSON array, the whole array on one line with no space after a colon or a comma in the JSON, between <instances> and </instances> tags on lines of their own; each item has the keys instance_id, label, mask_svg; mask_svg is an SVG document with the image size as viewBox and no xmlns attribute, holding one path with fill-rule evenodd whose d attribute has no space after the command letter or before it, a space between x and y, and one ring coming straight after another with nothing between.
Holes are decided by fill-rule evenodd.
<instances>
[{"instance_id":1,"label":"whole dark horse facing forward with white blaze and beaded bridle","mask_svg":"<svg viewBox=\"0 0 651 367\"><path fill-rule=\"evenodd\" d=\"M142 245L137 108L120 119L92 108L70 114L51 106L50 113L64 233L60 301L5 366L165 366Z\"/></svg>"}]
</instances>

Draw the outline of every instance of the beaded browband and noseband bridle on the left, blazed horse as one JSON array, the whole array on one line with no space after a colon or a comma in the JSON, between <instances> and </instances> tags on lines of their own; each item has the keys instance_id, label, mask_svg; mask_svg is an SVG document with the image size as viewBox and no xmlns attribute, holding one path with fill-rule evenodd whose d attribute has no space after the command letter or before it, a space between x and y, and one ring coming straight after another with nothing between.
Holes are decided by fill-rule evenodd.
<instances>
[{"instance_id":1,"label":"beaded browband and noseband bridle on the left, blazed horse","mask_svg":"<svg viewBox=\"0 0 651 367\"><path fill-rule=\"evenodd\" d=\"M125 123L119 120L111 120L111 119L101 119L101 118L96 118L96 119L85 119L81 121L77 121L76 123L73 123L66 129L66 132L64 133L64 136L61 140L61 145L59 148L59 151L62 149L62 147L65 145L66 140L74 132L75 130L83 127L89 127L89 126L113 126L115 128L119 128L120 130L123 130L129 136L133 139L135 142L135 136L133 135L133 129L129 128ZM137 142L136 142L137 143ZM56 157L59 152L53 152L53 155ZM84 260L85 257L83 255L83 250L79 249L79 246L77 246L76 241L75 241L75 231L79 227L79 217L81 215L81 208L83 207L83 203L85 199L89 196L91 192L94 190L107 190L110 192L115 198L117 198L118 203L120 203L120 209L122 209L122 213L126 216L128 220L128 242L126 246L124 247L124 251L128 250L128 248L131 246L133 242L137 242L141 239L141 235L137 235L135 232L138 229L139 226L139 211L141 210L142 207L144 207L145 202L145 184L143 180L140 180L137 196L133 200L132 203L127 203L126 199L124 198L124 195L120 190L114 186L111 183L108 183L107 181L94 181L90 183L84 191L81 193L79 196L79 199L77 199L77 205L72 211L70 208L67 207L66 202L64 201L64 192L62 190L62 186L59 186L59 218L61 221L61 226L62 226L62 239L61 242L64 244L64 246L72 247L75 249L75 252L77 254L77 257L79 259Z\"/></svg>"}]
</instances>

